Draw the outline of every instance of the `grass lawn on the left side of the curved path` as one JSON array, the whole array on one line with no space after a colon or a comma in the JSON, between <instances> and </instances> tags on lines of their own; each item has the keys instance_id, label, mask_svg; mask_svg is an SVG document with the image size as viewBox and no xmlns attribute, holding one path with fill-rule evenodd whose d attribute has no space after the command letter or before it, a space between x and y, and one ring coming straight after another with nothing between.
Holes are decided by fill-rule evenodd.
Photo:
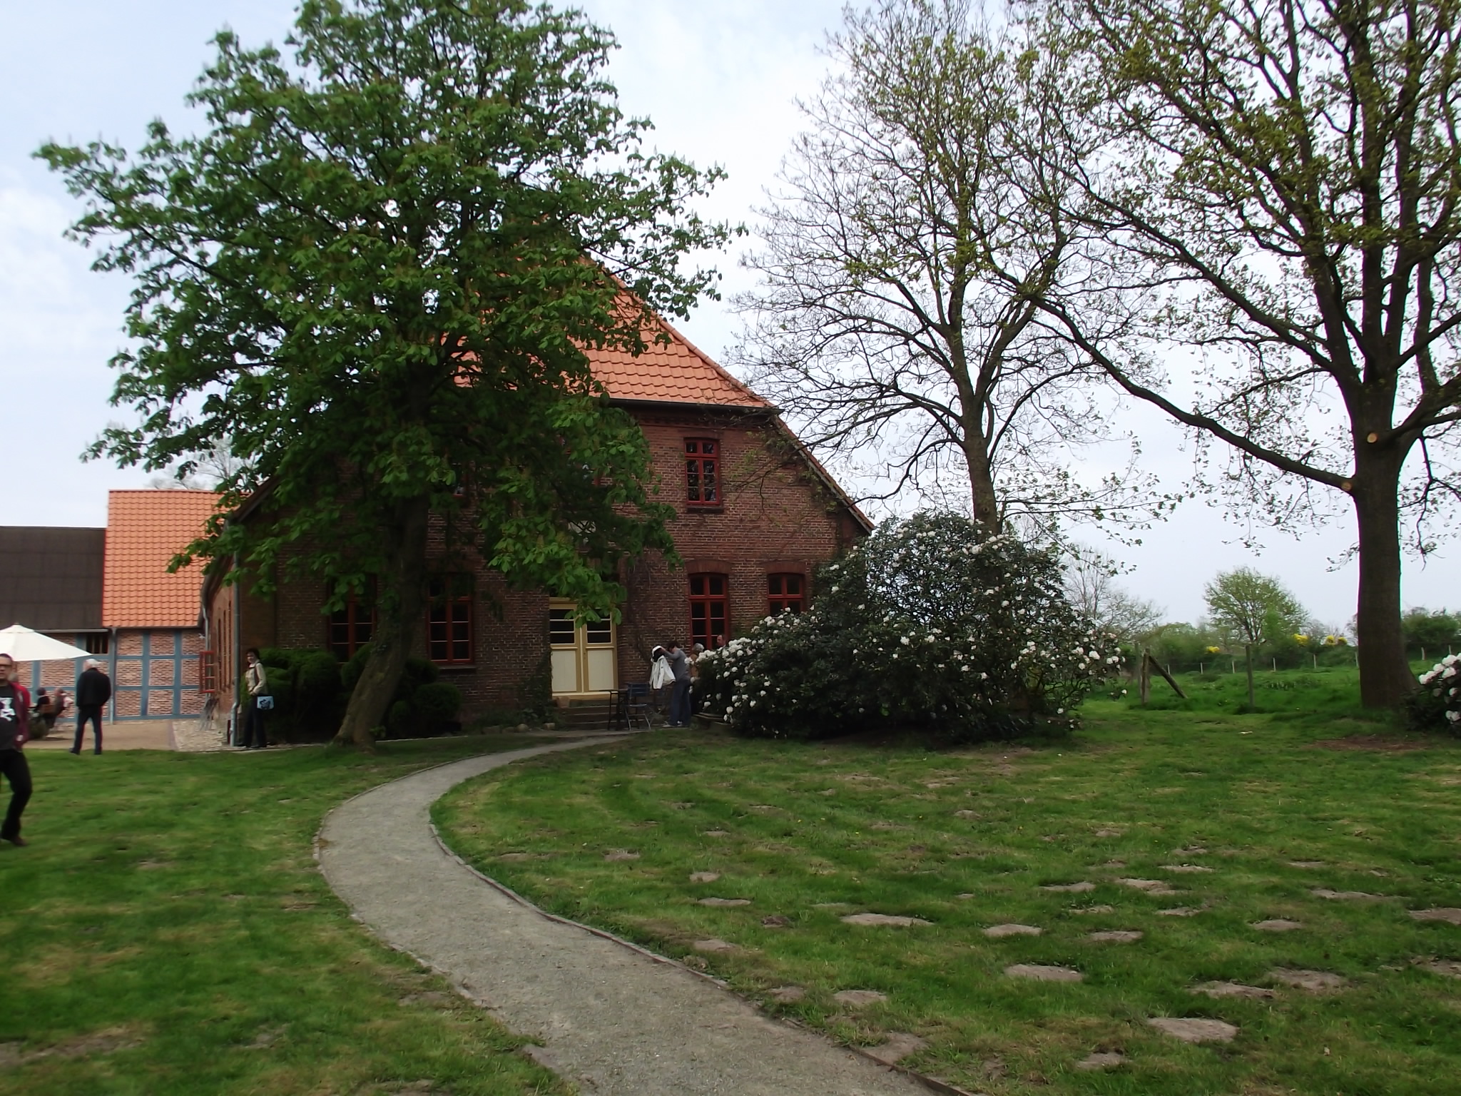
<instances>
[{"instance_id":1,"label":"grass lawn on the left side of the curved path","mask_svg":"<svg viewBox=\"0 0 1461 1096\"><path fill-rule=\"evenodd\" d=\"M351 921L313 856L349 795L522 742L31 751L31 845L0 846L0 1092L565 1092Z\"/></svg>"}]
</instances>

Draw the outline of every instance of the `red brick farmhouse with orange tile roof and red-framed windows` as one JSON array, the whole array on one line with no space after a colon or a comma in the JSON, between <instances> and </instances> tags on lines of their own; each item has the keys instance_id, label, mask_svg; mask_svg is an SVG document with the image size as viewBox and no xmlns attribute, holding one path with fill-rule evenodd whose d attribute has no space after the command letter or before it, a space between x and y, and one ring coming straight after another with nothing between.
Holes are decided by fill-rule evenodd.
<instances>
[{"instance_id":1,"label":"red brick farmhouse with orange tile roof and red-framed windows","mask_svg":"<svg viewBox=\"0 0 1461 1096\"><path fill-rule=\"evenodd\" d=\"M590 362L649 440L660 501L676 511L671 533L684 568L672 571L657 552L627 564L622 621L579 627L573 602L552 592L510 590L481 566L440 570L416 646L462 690L465 718L520 704L543 674L560 703L647 681L656 643L717 646L768 612L799 609L812 593L812 568L871 529L774 406L679 332L665 332L668 345L638 357L595 352ZM235 519L247 520L247 510ZM346 659L370 640L367 604L329 615L323 605L316 582L281 583L260 598L210 577L203 612L221 707L248 647L326 647Z\"/></svg>"}]
</instances>

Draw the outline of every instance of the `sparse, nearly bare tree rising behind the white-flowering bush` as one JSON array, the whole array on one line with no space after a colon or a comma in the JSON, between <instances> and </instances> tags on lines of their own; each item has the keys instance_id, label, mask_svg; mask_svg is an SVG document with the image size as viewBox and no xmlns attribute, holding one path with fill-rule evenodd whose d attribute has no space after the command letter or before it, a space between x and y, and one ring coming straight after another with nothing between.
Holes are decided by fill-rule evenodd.
<instances>
[{"instance_id":1,"label":"sparse, nearly bare tree rising behind the white-flowering bush","mask_svg":"<svg viewBox=\"0 0 1461 1096\"><path fill-rule=\"evenodd\" d=\"M1078 289L1064 259L1083 231L1031 155L1049 82L970 0L849 9L830 54L760 210L741 364L814 449L882 478L874 498L913 488L991 529L1150 522L1175 500L1134 438L1105 476L1072 468L1116 434L1099 370L1037 307Z\"/></svg>"}]
</instances>

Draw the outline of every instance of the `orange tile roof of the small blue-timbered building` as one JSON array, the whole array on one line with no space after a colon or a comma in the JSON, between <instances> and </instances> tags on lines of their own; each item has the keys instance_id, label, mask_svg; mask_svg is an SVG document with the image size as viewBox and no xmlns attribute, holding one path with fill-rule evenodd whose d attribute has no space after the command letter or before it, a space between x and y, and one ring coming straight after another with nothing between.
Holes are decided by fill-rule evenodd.
<instances>
[{"instance_id":1,"label":"orange tile roof of the small blue-timbered building","mask_svg":"<svg viewBox=\"0 0 1461 1096\"><path fill-rule=\"evenodd\" d=\"M111 491L101 621L108 628L197 624L200 566L168 574L168 563L203 532L218 507L212 491Z\"/></svg>"}]
</instances>

